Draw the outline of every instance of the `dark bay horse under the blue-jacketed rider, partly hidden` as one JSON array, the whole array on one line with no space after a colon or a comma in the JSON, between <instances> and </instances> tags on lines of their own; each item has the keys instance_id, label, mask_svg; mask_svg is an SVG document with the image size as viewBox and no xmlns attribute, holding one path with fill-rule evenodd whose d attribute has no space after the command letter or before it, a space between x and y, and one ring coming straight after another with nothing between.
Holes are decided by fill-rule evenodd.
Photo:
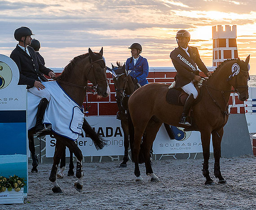
<instances>
[{"instance_id":1,"label":"dark bay horse under the blue-jacketed rider, partly hidden","mask_svg":"<svg viewBox=\"0 0 256 210\"><path fill-rule=\"evenodd\" d=\"M134 91L141 86L127 73L125 64L116 62L117 66L112 65L112 69L107 67L107 70L113 75L113 82L115 85L115 100L118 103L119 114L121 118L121 127L124 132L124 157L119 167L127 167L128 148L129 148L129 126L128 126L128 100ZM172 130L169 125L164 123L166 131L170 139L174 139ZM150 149L150 156L153 154L153 149Z\"/></svg>"}]
</instances>

